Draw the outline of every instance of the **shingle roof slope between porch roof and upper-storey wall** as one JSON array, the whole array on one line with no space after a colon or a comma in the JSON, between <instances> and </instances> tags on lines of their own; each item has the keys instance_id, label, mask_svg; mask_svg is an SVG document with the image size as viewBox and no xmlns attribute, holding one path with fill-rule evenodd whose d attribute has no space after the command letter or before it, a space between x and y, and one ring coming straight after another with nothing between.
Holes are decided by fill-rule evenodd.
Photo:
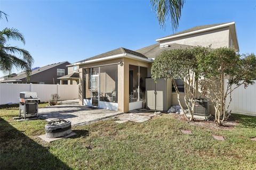
<instances>
[{"instance_id":1,"label":"shingle roof slope between porch roof and upper-storey wall","mask_svg":"<svg viewBox=\"0 0 256 170\"><path fill-rule=\"evenodd\" d=\"M173 44L169 44L168 47L160 48L159 43L157 43L157 44L153 44L153 45L138 49L138 50L136 50L136 52L139 52L148 58L155 58L157 55L159 55L164 50L187 48L187 47L191 47L191 46L173 43Z\"/></svg>"}]
</instances>

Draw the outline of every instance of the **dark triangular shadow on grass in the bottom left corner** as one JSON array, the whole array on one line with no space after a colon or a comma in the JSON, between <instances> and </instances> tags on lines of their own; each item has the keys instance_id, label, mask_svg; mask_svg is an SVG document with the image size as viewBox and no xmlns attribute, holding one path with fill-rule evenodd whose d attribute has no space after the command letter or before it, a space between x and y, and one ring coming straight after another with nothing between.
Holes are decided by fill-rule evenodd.
<instances>
[{"instance_id":1,"label":"dark triangular shadow on grass in the bottom left corner","mask_svg":"<svg viewBox=\"0 0 256 170\"><path fill-rule=\"evenodd\" d=\"M71 169L0 117L0 169Z\"/></svg>"}]
</instances>

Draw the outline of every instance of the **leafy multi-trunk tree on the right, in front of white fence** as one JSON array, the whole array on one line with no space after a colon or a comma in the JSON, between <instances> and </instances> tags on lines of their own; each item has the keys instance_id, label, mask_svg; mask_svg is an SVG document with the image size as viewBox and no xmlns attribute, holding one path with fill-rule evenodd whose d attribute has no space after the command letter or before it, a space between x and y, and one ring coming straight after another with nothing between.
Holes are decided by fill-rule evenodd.
<instances>
[{"instance_id":1,"label":"leafy multi-trunk tree on the right, in front of white fence","mask_svg":"<svg viewBox=\"0 0 256 170\"><path fill-rule=\"evenodd\" d=\"M238 55L234 49L209 49L205 55L197 56L199 87L204 96L209 97L215 108L215 123L222 125L228 118L231 93L234 89L253 84L256 78L255 55ZM225 81L227 80L227 82ZM229 104L226 107L226 100Z\"/></svg>"}]
</instances>

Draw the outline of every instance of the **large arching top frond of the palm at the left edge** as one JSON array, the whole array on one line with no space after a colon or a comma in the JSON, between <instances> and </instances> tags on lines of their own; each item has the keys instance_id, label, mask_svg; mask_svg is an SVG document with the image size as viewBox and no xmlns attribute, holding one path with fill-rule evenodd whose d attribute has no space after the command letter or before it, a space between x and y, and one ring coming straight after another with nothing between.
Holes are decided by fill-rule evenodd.
<instances>
[{"instance_id":1,"label":"large arching top frond of the palm at the left edge","mask_svg":"<svg viewBox=\"0 0 256 170\"><path fill-rule=\"evenodd\" d=\"M25 44L25 38L23 37L22 33L20 33L20 31L15 28L3 29L2 31L0 31L0 37L6 37L7 40L19 40L22 41L23 44ZM0 38L0 40L2 39L3 38Z\"/></svg>"}]
</instances>

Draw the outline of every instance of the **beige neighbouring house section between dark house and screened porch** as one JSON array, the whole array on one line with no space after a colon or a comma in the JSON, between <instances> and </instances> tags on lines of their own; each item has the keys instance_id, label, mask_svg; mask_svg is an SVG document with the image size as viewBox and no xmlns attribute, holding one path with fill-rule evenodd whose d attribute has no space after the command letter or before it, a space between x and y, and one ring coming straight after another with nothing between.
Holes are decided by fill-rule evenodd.
<instances>
[{"instance_id":1,"label":"beige neighbouring house section between dark house and screened porch","mask_svg":"<svg viewBox=\"0 0 256 170\"><path fill-rule=\"evenodd\" d=\"M68 74L58 78L60 84L78 84L79 83L79 65L68 66Z\"/></svg>"}]
</instances>

